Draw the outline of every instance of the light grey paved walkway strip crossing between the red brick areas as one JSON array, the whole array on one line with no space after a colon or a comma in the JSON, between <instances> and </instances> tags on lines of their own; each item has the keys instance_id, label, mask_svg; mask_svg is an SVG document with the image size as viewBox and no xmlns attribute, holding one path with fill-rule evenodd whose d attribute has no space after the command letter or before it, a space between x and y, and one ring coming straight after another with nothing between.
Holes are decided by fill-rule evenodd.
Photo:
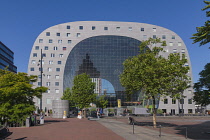
<instances>
[{"instance_id":1,"label":"light grey paved walkway strip crossing between the red brick areas","mask_svg":"<svg viewBox=\"0 0 210 140\"><path fill-rule=\"evenodd\" d=\"M160 132L135 125L133 134L133 125L128 125L115 119L104 118L98 120L98 122L116 134L120 135L121 137L125 138L126 140L186 140L184 137L167 133L161 133L161 137L159 137Z\"/></svg>"}]
</instances>

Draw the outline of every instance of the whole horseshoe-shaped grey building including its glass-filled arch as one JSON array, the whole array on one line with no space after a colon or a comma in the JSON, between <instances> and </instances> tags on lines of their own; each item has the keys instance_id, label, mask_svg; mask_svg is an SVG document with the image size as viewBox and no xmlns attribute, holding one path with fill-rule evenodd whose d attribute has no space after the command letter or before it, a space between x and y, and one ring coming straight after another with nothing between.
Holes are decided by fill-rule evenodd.
<instances>
[{"instance_id":1,"label":"whole horseshoe-shaped grey building including its glass-filled arch","mask_svg":"<svg viewBox=\"0 0 210 140\"><path fill-rule=\"evenodd\" d=\"M126 100L125 88L119 75L123 72L123 62L139 54L141 41L148 38L161 38L167 46L163 56L169 53L185 54L190 66L190 58L183 40L173 31L145 23L79 21L58 24L44 30L32 46L28 63L28 74L39 75L34 86L48 87L43 93L43 108L51 109L52 100L60 100L66 88L73 86L74 76L82 73L90 75L96 83L95 93L105 95L109 107L141 103L142 96L133 94ZM151 48L150 48L151 49ZM42 56L42 58L41 58ZM40 67L42 65L42 67ZM42 68L42 69L41 69ZM41 76L41 72L42 76ZM190 69L188 75L192 77ZM183 106L184 113L194 113L192 87L184 91L182 101L169 97L160 99L157 107L166 113L177 114ZM39 106L40 100L35 99Z\"/></svg>"}]
</instances>

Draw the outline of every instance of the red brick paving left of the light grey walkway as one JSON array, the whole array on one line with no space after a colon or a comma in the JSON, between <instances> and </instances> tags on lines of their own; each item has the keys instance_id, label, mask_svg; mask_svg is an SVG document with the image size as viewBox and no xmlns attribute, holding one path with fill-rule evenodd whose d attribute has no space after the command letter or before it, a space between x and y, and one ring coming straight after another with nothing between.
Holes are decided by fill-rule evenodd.
<instances>
[{"instance_id":1,"label":"red brick paving left of the light grey walkway","mask_svg":"<svg viewBox=\"0 0 210 140\"><path fill-rule=\"evenodd\" d=\"M124 140L97 121L77 118L46 118L44 125L9 130L3 140Z\"/></svg>"}]
</instances>

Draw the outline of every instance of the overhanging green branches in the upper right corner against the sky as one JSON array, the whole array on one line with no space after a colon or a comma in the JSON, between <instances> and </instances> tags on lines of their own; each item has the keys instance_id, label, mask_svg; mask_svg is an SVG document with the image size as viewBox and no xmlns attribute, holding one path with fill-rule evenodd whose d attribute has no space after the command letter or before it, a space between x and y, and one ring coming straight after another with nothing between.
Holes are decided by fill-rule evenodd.
<instances>
[{"instance_id":1,"label":"overhanging green branches in the upper right corner against the sky","mask_svg":"<svg viewBox=\"0 0 210 140\"><path fill-rule=\"evenodd\" d=\"M206 6L202 9L205 11L210 8L210 1L204 1ZM210 11L206 11L206 16L210 17ZM193 43L200 42L200 46L210 42L210 20L207 20L203 26L197 27L197 33L193 34Z\"/></svg>"}]
</instances>

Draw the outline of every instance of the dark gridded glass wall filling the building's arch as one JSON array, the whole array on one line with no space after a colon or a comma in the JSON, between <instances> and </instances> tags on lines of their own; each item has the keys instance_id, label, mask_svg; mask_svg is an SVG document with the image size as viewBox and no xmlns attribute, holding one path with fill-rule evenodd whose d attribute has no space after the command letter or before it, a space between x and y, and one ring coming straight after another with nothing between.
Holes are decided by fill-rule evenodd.
<instances>
[{"instance_id":1,"label":"dark gridded glass wall filling the building's arch","mask_svg":"<svg viewBox=\"0 0 210 140\"><path fill-rule=\"evenodd\" d=\"M91 78L105 79L112 84L115 93L107 93L107 96L125 101L125 89L120 84L119 75L125 59L139 53L140 43L134 38L111 35L90 37L79 42L67 58L63 89L72 87L75 75L87 73ZM112 104L116 104L116 99L112 100Z\"/></svg>"}]
</instances>

